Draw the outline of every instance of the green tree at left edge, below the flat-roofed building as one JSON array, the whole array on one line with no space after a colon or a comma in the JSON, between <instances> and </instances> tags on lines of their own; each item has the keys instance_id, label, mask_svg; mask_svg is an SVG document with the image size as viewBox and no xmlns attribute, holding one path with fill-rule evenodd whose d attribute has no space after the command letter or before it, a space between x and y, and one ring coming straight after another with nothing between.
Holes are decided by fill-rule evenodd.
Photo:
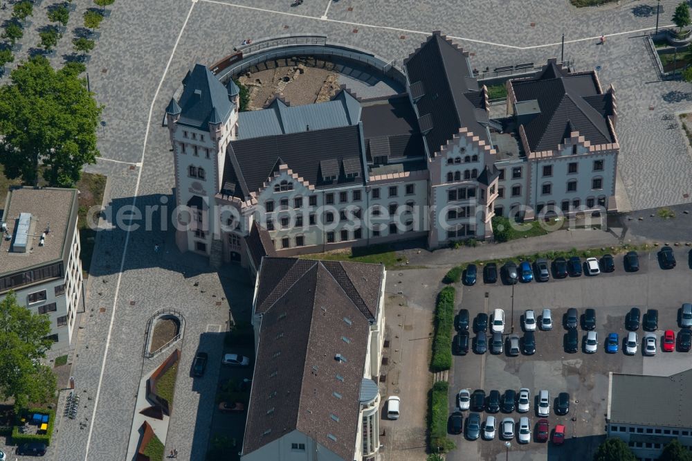
<instances>
[{"instance_id":1,"label":"green tree at left edge, below the flat-roofed building","mask_svg":"<svg viewBox=\"0 0 692 461\"><path fill-rule=\"evenodd\" d=\"M55 374L39 360L52 341L51 320L17 304L15 293L0 301L0 396L15 399L15 410L55 395Z\"/></svg>"}]
</instances>

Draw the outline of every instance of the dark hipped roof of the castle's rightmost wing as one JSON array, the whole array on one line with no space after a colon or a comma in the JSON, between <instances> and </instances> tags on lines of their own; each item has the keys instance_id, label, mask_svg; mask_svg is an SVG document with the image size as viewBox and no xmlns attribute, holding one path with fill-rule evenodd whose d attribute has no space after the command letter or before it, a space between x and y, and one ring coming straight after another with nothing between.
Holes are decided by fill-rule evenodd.
<instances>
[{"instance_id":1,"label":"dark hipped roof of the castle's rightmost wing","mask_svg":"<svg viewBox=\"0 0 692 461\"><path fill-rule=\"evenodd\" d=\"M592 144L614 142L612 97L599 92L594 74L570 74L550 60L534 78L511 84L518 102L538 101L540 114L524 125L532 151L555 150L572 131Z\"/></svg>"}]
</instances>

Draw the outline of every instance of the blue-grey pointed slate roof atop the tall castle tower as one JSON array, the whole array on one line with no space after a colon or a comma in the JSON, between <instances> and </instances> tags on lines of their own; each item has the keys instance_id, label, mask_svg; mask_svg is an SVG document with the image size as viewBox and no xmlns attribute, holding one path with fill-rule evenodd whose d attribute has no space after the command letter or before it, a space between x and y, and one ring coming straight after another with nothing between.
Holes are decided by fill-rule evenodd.
<instances>
[{"instance_id":1,"label":"blue-grey pointed slate roof atop the tall castle tower","mask_svg":"<svg viewBox=\"0 0 692 461\"><path fill-rule=\"evenodd\" d=\"M206 130L215 108L222 120L228 118L233 109L228 91L206 66L195 64L194 69L185 75L183 84L179 124Z\"/></svg>"}]
</instances>

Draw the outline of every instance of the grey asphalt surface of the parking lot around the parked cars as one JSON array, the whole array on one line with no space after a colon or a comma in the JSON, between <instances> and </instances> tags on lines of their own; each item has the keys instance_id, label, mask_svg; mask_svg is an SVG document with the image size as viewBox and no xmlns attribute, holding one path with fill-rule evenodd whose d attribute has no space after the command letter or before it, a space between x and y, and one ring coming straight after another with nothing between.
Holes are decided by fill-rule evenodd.
<instances>
[{"instance_id":1,"label":"grey asphalt surface of the parking lot around the parked cars","mask_svg":"<svg viewBox=\"0 0 692 461\"><path fill-rule=\"evenodd\" d=\"M692 271L688 265L689 248L675 248L677 266L662 270L656 253L640 254L641 269L636 273L623 271L622 256L615 257L615 271L601 273L594 277L568 277L562 280L551 278L549 282L518 283L514 286L484 284L479 277L473 287L463 287L462 296L457 296L459 308L468 309L473 319L476 314L493 309L504 309L506 325L504 338L511 332L522 336L521 315L525 309L534 309L536 315L549 308L552 310L554 327L552 331L536 331L536 353L531 356L520 354L516 357L474 354L469 350L466 356L455 356L453 377L450 377L450 413L455 411L455 394L458 390L507 389L518 392L520 388L531 390L531 409L529 413L513 413L509 416L518 421L527 415L531 420L531 442L520 445L515 437L507 447L503 440L468 441L463 435L450 435L457 449L448 455L448 460L482 459L494 460L500 455L509 459L560 459L583 460L592 456L593 451L605 433L605 413L608 406L608 375L614 373L657 374L667 376L690 367L689 353L662 352L660 338L666 329L672 329L676 336L677 309L682 302L692 302ZM479 268L480 273L480 268ZM631 307L639 307L642 313L648 308L659 309L658 352L649 357L641 354L641 340L644 332L637 332L639 350L633 356L622 352L623 336L626 336L625 316ZM579 314L588 307L596 309L598 351L595 354L583 352L582 341L586 332L579 327L579 352L567 354L563 341L567 330L563 327L563 316L567 309L576 307ZM619 334L620 347L616 354L606 354L604 341L608 334ZM473 338L473 332L471 333ZM473 342L471 343L473 346ZM505 351L506 352L506 351ZM552 443L538 443L534 439L538 422L534 397L541 389L549 390L551 411L547 418L552 429L556 424L565 424L566 440L562 446ZM554 414L552 406L559 392L570 393L570 413L563 417ZM632 405L637 402L633 401ZM464 411L464 417L468 411ZM485 421L487 414L482 413ZM498 413L501 421L508 416ZM463 453L463 454L462 454ZM504 457L503 457L504 458Z\"/></svg>"}]
</instances>

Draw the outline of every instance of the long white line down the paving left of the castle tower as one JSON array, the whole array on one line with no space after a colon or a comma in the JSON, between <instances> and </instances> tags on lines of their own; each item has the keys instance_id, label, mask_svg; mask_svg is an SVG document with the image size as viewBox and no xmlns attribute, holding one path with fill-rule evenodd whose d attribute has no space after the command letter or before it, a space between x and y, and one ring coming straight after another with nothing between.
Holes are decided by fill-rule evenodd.
<instances>
[{"instance_id":1,"label":"long white line down the paving left of the castle tower","mask_svg":"<svg viewBox=\"0 0 692 461\"><path fill-rule=\"evenodd\" d=\"M173 56L175 55L176 48L178 48L178 44L180 43L181 37L183 37L183 31L185 30L185 26L188 24L188 19L190 19L190 15L192 15L192 9L194 8L194 4L196 2L192 2L190 4L190 10L188 10L188 16L185 17L185 22L183 22L183 26L180 29L180 32L178 33L178 38L175 41L175 44L173 45L173 51L171 51L171 55L168 58L168 62L166 63L166 67L163 70L163 75L161 75L161 80L158 82L158 87L156 87L156 93L154 93L154 98L152 99L152 105L149 107L149 118L147 118L147 130L144 134L144 144L142 146L142 157L140 159L139 164L143 165L144 164L144 155L145 152L147 152L147 141L149 141L149 127L152 125L152 114L154 113L154 104L156 103L156 98L158 98L158 92L161 91L161 86L163 85L163 80L166 77L166 74L168 73L168 69L170 68L171 62L173 60ZM139 169L139 172L137 174L137 184L134 189L134 196L132 197L132 208L135 208L137 204L137 193L139 192L139 184L140 180L142 179L142 168ZM131 220L130 220L131 222ZM93 411L91 412L91 424L89 424L89 436L86 438L86 452L84 453L84 461L86 461L89 458L89 446L91 445L91 435L93 433L93 426L95 423L95 416L96 416L96 409L98 408L98 398L100 397L101 394L101 384L103 382L103 373L106 370L106 359L108 357L108 347L111 343L111 334L113 332L113 320L115 320L116 316L116 306L118 305L118 294L120 293L120 282L122 281L122 270L125 268L125 257L127 256L127 246L129 244L129 236L130 233L128 232L127 235L125 235L125 245L122 248L122 257L120 258L120 271L118 271L118 282L116 283L116 291L115 295L113 297L113 309L111 309L111 323L108 325L108 336L106 337L106 350L104 351L103 354L103 361L101 363L101 374L98 377L98 387L96 388L96 397L94 397L93 401Z\"/></svg>"}]
</instances>

